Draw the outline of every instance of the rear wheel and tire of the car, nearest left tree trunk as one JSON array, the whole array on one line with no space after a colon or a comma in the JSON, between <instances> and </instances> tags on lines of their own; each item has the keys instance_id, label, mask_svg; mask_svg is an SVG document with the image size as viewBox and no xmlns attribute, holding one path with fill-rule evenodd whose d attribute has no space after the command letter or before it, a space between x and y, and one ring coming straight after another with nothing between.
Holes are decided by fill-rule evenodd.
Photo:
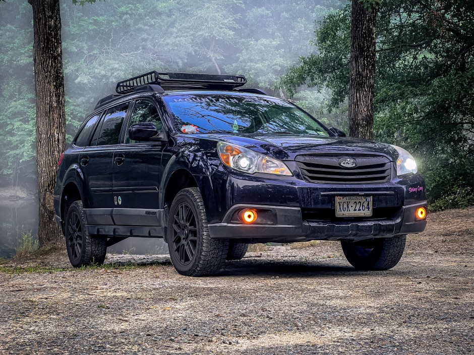
<instances>
[{"instance_id":1,"label":"rear wheel and tire of the car, nearest left tree trunk","mask_svg":"<svg viewBox=\"0 0 474 355\"><path fill-rule=\"evenodd\" d=\"M73 202L66 215L66 249L74 267L100 265L107 254L107 238L86 234L82 201Z\"/></svg>"}]
</instances>

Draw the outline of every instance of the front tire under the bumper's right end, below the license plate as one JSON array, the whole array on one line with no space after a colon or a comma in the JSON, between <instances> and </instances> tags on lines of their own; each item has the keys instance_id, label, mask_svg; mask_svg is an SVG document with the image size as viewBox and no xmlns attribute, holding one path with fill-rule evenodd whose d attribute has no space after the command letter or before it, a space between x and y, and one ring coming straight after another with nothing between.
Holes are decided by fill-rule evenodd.
<instances>
[{"instance_id":1,"label":"front tire under the bumper's right end, below the license plate","mask_svg":"<svg viewBox=\"0 0 474 355\"><path fill-rule=\"evenodd\" d=\"M359 242L341 241L347 261L360 270L388 270L401 259L406 235L374 238Z\"/></svg>"}]
</instances>

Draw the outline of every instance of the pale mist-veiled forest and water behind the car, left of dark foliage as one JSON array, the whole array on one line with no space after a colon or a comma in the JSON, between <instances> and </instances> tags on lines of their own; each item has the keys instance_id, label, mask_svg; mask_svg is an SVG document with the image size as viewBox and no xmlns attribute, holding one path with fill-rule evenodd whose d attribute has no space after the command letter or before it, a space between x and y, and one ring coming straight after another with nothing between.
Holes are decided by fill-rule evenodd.
<instances>
[{"instance_id":1,"label":"pale mist-veiled forest and water behind the car, left of dark foliage","mask_svg":"<svg viewBox=\"0 0 474 355\"><path fill-rule=\"evenodd\" d=\"M317 21L339 1L143 0L61 2L67 141L115 83L150 70L244 74L272 95L300 56L316 52ZM344 3L345 4L345 3ZM35 98L31 6L0 4L0 257L37 233ZM321 115L329 94L303 90L295 100ZM341 124L341 118L322 117ZM327 120L333 120L328 122ZM114 252L163 253L161 240L130 239Z\"/></svg>"}]
</instances>

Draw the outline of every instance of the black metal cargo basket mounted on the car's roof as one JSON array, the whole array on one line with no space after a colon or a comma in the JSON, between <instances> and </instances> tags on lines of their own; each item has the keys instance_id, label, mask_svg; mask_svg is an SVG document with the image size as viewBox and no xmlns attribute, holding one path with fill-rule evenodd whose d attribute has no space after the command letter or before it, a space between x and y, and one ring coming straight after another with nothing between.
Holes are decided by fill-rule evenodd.
<instances>
[{"instance_id":1,"label":"black metal cargo basket mounted on the car's roof","mask_svg":"<svg viewBox=\"0 0 474 355\"><path fill-rule=\"evenodd\" d=\"M158 73L156 71L142 74L117 83L117 94L128 94L138 86L146 84L159 85L163 90L233 90L247 83L243 75L214 75L191 73Z\"/></svg>"}]
</instances>

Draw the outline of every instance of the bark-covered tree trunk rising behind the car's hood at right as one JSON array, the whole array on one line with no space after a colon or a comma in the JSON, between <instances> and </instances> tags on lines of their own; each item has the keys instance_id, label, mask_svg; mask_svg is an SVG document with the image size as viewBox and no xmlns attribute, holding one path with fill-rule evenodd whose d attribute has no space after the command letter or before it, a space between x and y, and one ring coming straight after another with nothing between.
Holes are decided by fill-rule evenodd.
<instances>
[{"instance_id":1,"label":"bark-covered tree trunk rising behind the car's hood at right","mask_svg":"<svg viewBox=\"0 0 474 355\"><path fill-rule=\"evenodd\" d=\"M374 6L352 0L350 28L349 136L373 139L375 79Z\"/></svg>"}]
</instances>

